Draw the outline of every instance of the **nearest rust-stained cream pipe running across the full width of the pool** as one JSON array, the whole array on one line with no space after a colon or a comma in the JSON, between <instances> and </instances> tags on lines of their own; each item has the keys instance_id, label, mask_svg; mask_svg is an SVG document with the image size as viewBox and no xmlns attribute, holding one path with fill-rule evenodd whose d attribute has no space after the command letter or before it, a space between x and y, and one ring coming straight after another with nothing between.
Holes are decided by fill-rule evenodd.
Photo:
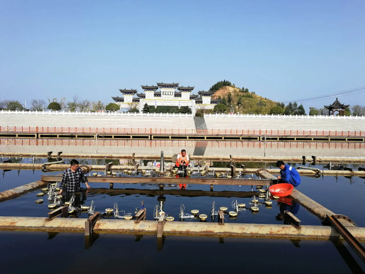
<instances>
[{"instance_id":1,"label":"nearest rust-stained cream pipe running across the full width of the pool","mask_svg":"<svg viewBox=\"0 0 365 274\"><path fill-rule=\"evenodd\" d=\"M0 217L0 231L47 231L47 232L85 232L85 218L55 218L49 221L42 217ZM359 241L365 241L365 228L349 227L351 234ZM150 234L156 235L157 221L99 219L93 228L95 233ZM276 224L237 224L219 225L210 222L166 222L163 234L177 236L209 237L255 237L271 239L342 239L333 227Z\"/></svg>"}]
</instances>

